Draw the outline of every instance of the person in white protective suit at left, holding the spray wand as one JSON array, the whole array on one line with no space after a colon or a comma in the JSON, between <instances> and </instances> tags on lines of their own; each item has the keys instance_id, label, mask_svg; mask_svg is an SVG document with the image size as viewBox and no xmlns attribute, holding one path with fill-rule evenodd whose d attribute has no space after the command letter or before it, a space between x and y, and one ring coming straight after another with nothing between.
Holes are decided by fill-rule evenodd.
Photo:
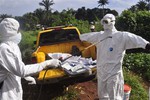
<instances>
[{"instance_id":1,"label":"person in white protective suit at left, holding the spray wand","mask_svg":"<svg viewBox=\"0 0 150 100\"><path fill-rule=\"evenodd\" d=\"M30 75L60 65L56 59L25 65L18 47L21 40L18 29L19 23L13 18L5 18L0 23L0 100L22 100L21 78L34 82Z\"/></svg>"}]
</instances>

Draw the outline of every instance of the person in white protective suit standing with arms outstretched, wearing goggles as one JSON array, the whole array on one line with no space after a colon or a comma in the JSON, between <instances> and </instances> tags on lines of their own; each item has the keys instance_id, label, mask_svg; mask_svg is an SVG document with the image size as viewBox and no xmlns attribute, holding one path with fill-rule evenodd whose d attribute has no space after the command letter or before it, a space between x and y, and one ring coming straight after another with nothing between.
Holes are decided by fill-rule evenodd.
<instances>
[{"instance_id":1,"label":"person in white protective suit standing with arms outstretched, wearing goggles","mask_svg":"<svg viewBox=\"0 0 150 100\"><path fill-rule=\"evenodd\" d=\"M106 14L102 20L104 31L82 34L80 39L96 43L97 79L100 100L123 100L124 78L122 61L126 49L146 48L150 44L140 36L130 32L117 31L115 16Z\"/></svg>"}]
</instances>

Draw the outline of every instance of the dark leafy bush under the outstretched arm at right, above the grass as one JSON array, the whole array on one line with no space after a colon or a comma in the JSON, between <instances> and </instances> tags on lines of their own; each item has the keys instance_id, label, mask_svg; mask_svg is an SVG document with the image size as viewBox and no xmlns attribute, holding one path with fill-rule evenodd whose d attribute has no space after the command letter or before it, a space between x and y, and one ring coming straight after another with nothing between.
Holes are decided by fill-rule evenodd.
<instances>
[{"instance_id":1,"label":"dark leafy bush under the outstretched arm at right, above the grass","mask_svg":"<svg viewBox=\"0 0 150 100\"><path fill-rule=\"evenodd\" d=\"M126 54L124 57L123 65L129 70L139 74L146 81L150 82L150 54Z\"/></svg>"}]
</instances>

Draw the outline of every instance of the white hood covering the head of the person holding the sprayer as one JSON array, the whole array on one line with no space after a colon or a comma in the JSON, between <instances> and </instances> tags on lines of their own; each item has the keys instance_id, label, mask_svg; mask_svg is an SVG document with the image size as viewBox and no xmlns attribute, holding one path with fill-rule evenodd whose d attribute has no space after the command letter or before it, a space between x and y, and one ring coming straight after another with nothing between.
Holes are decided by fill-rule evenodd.
<instances>
[{"instance_id":1,"label":"white hood covering the head of the person holding the sprayer","mask_svg":"<svg viewBox=\"0 0 150 100\"><path fill-rule=\"evenodd\" d=\"M21 33L19 33L19 22L13 18L5 18L0 23L0 41L13 41L19 43L21 41Z\"/></svg>"}]
</instances>

